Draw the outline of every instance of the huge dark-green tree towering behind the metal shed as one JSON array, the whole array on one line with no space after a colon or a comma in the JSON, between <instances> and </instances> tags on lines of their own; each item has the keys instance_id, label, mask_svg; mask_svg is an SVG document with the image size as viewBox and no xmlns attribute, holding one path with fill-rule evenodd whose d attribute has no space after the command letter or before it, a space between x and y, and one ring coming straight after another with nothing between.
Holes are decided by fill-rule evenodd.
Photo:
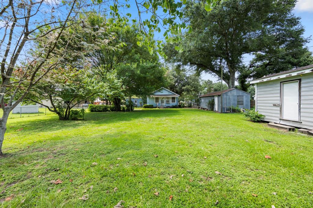
<instances>
[{"instance_id":1,"label":"huge dark-green tree towering behind the metal shed","mask_svg":"<svg viewBox=\"0 0 313 208\"><path fill-rule=\"evenodd\" d=\"M310 53L301 49L308 39L303 37L300 18L292 13L296 0L228 0L218 3L211 12L203 8L204 2L190 1L184 7L184 22L193 30L182 39L183 52L167 44L165 53L172 62L190 64L198 72L218 77L223 66L223 81L229 88L235 86L236 73L245 80L247 74L259 77L308 62L298 60L310 57ZM297 51L276 57L292 50ZM247 54L255 57L248 66L243 64ZM269 55L275 56L265 58ZM286 63L282 67L280 58Z\"/></svg>"}]
</instances>

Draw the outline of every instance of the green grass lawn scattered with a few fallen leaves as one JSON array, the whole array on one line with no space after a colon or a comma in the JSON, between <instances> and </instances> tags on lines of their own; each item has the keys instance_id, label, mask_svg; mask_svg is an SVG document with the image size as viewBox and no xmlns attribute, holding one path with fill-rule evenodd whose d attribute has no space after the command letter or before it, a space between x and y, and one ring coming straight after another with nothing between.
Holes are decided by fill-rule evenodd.
<instances>
[{"instance_id":1,"label":"green grass lawn scattered with a few fallen leaves","mask_svg":"<svg viewBox=\"0 0 313 208\"><path fill-rule=\"evenodd\" d=\"M313 137L241 114L142 109L86 113L84 121L9 119L3 152L3 207L313 207Z\"/></svg>"}]
</instances>

